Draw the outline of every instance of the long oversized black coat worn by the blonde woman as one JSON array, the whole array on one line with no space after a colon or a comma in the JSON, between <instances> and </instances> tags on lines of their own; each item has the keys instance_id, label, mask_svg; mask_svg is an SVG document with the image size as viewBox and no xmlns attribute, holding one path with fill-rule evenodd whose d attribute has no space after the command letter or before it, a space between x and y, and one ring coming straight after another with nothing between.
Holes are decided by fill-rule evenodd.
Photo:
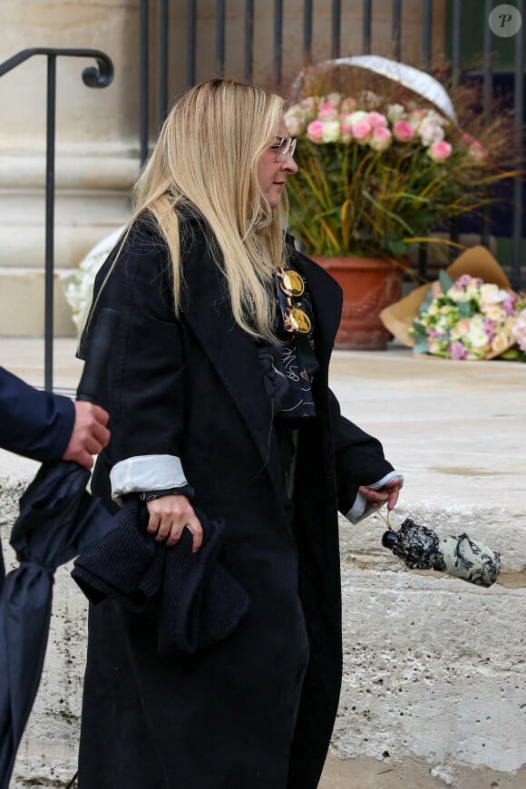
<instances>
[{"instance_id":1,"label":"long oversized black coat worn by the blonde woman","mask_svg":"<svg viewBox=\"0 0 526 789\"><path fill-rule=\"evenodd\" d=\"M392 466L328 389L340 289L291 252L312 297L320 365L317 416L299 431L291 520L257 348L233 320L206 231L191 217L182 225L180 319L166 247L148 222L132 229L102 288L98 307L117 307L121 322L101 393L112 441L93 489L107 498L108 469L123 459L178 456L195 505L226 522L223 562L250 607L229 638L193 657L159 657L147 617L92 607L79 786L315 789L341 678L337 509Z\"/></svg>"}]
</instances>

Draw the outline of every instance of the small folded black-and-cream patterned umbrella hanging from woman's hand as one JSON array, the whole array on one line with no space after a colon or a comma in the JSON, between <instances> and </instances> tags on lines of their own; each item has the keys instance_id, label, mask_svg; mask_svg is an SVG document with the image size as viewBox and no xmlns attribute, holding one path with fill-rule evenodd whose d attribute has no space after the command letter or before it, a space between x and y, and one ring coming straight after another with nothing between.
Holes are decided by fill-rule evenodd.
<instances>
[{"instance_id":1,"label":"small folded black-and-cream patterned umbrella hanging from woman's hand","mask_svg":"<svg viewBox=\"0 0 526 789\"><path fill-rule=\"evenodd\" d=\"M439 570L477 586L492 586L501 569L500 554L482 542L465 533L439 540L434 531L410 518L400 531L385 531L382 544L412 570Z\"/></svg>"}]
</instances>

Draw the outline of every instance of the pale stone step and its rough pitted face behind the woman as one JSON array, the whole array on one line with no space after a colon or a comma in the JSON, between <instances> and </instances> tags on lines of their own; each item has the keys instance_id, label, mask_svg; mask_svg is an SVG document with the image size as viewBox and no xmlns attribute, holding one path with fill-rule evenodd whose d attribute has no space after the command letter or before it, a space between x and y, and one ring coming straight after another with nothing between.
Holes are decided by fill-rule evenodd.
<instances>
[{"instance_id":1,"label":"pale stone step and its rough pitted face behind the woman","mask_svg":"<svg viewBox=\"0 0 526 789\"><path fill-rule=\"evenodd\" d=\"M72 395L82 371L82 363L73 358L74 346L69 338L54 344L54 385ZM43 340L0 338L0 365L34 385L43 384L43 359ZM354 608L345 610L350 618L345 636L349 662L334 753L327 760L320 789L526 785L526 365L415 358L409 349L394 344L385 352L336 351L331 382L342 412L377 435L386 456L404 472L395 522L411 514L419 522L442 521L446 529L451 522L452 531L462 525L470 536L502 552L502 572L498 583L483 591L463 581L444 580L438 573L418 575L400 568L398 560L382 549L381 521L353 531L343 527L344 596L350 592L363 614L360 621L353 621ZM29 476L34 467L0 451L0 474ZM394 589L395 611L386 613L382 603L380 618L375 619L375 599L389 595L392 599ZM435 602L430 608L421 605L424 599ZM470 611L465 621L454 626L451 615L448 619L443 613L452 599L461 614ZM414 633L410 606L417 617L434 621L434 635L425 631L425 648L424 637ZM489 618L489 635L481 627L481 612ZM386 615L391 630L384 631ZM378 667L375 675L362 676L364 660L354 660L366 619L380 642L395 634L389 647L395 657L383 676L390 689L399 682L404 718L400 706L381 694L369 696L363 717L356 718L362 695L371 693L373 683L383 682L377 678ZM455 628L463 628L462 648ZM371 632L365 632L367 639ZM436 654L431 654L433 645ZM375 651L378 666L381 648L379 643ZM419 648L430 654L420 656ZM442 653L449 655L449 665L441 662ZM409 673L407 660L413 657L421 661L417 696L411 695L407 677L400 674ZM375 657L371 659L374 662ZM467 673L462 673L464 668ZM452 684L454 672L459 672L458 681ZM362 677L357 684L356 677ZM458 694L459 688L465 693L463 706L453 697L440 706L444 692ZM422 697L435 691L437 696L425 696L420 710ZM24 770L25 755L35 747L25 746L20 774L26 778L17 787L35 785ZM52 785L39 780L38 785Z\"/></svg>"}]
</instances>

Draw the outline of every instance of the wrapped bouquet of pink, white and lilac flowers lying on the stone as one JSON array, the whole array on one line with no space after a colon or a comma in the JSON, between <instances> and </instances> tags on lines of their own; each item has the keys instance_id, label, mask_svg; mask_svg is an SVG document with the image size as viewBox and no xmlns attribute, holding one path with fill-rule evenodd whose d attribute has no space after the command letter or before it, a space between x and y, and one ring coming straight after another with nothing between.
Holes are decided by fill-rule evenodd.
<instances>
[{"instance_id":1,"label":"wrapped bouquet of pink, white and lilac flowers lying on the stone","mask_svg":"<svg viewBox=\"0 0 526 789\"><path fill-rule=\"evenodd\" d=\"M463 274L453 281L441 272L430 287L409 333L414 353L474 360L504 356L516 343L526 350L526 303L511 290ZM513 353L508 358L526 355Z\"/></svg>"}]
</instances>

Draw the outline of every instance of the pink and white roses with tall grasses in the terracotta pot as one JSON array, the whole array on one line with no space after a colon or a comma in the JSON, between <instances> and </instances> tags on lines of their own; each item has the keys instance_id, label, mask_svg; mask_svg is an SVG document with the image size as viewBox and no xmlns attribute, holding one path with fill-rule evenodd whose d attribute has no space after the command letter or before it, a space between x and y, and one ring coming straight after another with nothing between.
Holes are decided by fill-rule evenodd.
<instances>
[{"instance_id":1,"label":"pink and white roses with tall grasses in the terracotta pot","mask_svg":"<svg viewBox=\"0 0 526 789\"><path fill-rule=\"evenodd\" d=\"M285 116L299 166L287 182L290 227L307 254L404 261L411 244L443 243L435 231L515 174L503 166L503 116L474 122L467 102L455 123L364 69L333 77L312 67Z\"/></svg>"}]
</instances>

